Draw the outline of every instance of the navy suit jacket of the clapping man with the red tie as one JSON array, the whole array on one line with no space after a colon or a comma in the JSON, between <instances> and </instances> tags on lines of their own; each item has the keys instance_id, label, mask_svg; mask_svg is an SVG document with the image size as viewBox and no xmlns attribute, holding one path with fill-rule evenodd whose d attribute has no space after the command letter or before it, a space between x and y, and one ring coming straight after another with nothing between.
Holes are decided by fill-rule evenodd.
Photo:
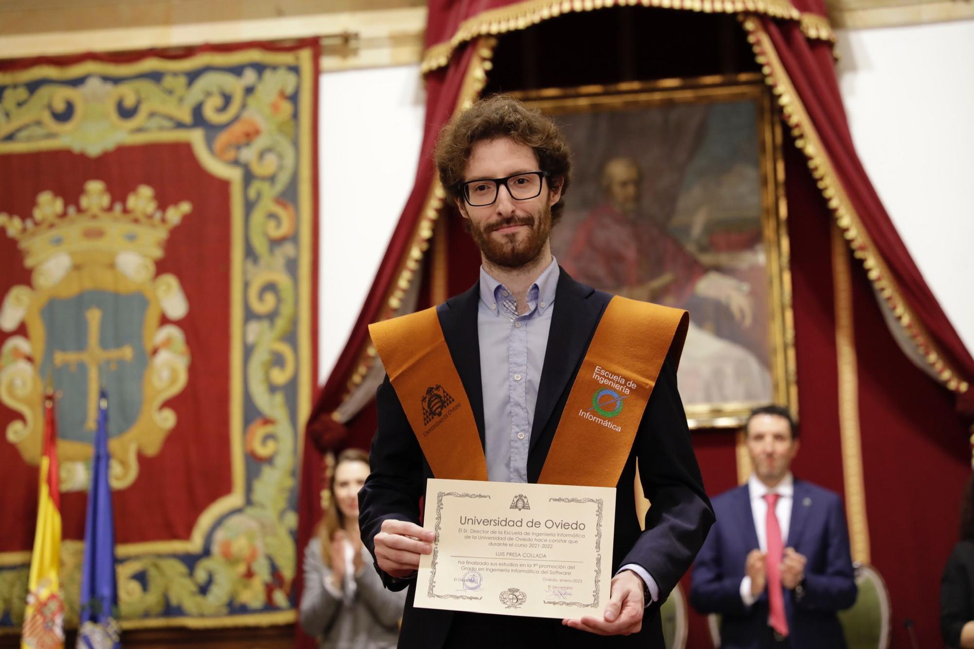
<instances>
[{"instance_id":1,"label":"navy suit jacket of the clapping man with the red tie","mask_svg":"<svg viewBox=\"0 0 974 649\"><path fill-rule=\"evenodd\" d=\"M768 592L750 607L740 597L747 554L758 548L758 533L747 485L714 498L717 522L693 563L690 601L700 613L721 614L721 648L760 647L768 626ZM845 646L836 611L855 603L843 502L838 494L795 480L786 548L807 559L802 592L785 593L792 649Z\"/></svg>"}]
</instances>

